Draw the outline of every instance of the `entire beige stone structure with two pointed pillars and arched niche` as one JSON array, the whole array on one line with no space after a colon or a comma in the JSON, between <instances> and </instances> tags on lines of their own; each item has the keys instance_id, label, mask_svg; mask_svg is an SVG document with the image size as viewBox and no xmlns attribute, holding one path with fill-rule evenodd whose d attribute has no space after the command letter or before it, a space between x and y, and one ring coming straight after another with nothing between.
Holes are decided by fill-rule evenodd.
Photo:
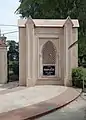
<instances>
[{"instance_id":1,"label":"entire beige stone structure with two pointed pillars and arched niche","mask_svg":"<svg viewBox=\"0 0 86 120\"><path fill-rule=\"evenodd\" d=\"M20 19L19 84L71 86L72 68L78 66L78 20Z\"/></svg>"}]
</instances>

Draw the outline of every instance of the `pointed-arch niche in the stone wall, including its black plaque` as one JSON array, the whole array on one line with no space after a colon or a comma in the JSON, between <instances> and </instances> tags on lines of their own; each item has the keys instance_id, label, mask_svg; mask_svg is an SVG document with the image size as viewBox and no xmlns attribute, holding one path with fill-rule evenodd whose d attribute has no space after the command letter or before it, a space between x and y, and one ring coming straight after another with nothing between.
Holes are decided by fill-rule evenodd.
<instances>
[{"instance_id":1,"label":"pointed-arch niche in the stone wall, including its black plaque","mask_svg":"<svg viewBox=\"0 0 86 120\"><path fill-rule=\"evenodd\" d=\"M48 41L42 48L42 75L46 77L56 76L56 48Z\"/></svg>"}]
</instances>

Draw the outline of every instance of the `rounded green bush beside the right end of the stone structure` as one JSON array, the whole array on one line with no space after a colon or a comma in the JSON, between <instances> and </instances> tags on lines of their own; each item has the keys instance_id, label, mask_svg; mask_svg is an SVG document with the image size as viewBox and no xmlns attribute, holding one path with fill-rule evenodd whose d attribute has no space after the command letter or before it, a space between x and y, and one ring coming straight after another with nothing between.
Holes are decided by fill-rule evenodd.
<instances>
[{"instance_id":1,"label":"rounded green bush beside the right end of the stone structure","mask_svg":"<svg viewBox=\"0 0 86 120\"><path fill-rule=\"evenodd\" d=\"M76 87L83 87L83 80L86 86L86 68L78 67L72 70L72 84Z\"/></svg>"}]
</instances>

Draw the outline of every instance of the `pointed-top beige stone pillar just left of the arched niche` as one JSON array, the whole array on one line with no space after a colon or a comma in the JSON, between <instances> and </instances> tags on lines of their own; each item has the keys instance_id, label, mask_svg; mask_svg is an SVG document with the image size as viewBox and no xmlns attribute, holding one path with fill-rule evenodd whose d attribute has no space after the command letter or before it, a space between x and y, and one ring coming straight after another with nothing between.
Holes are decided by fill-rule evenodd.
<instances>
[{"instance_id":1,"label":"pointed-top beige stone pillar just left of the arched niche","mask_svg":"<svg viewBox=\"0 0 86 120\"><path fill-rule=\"evenodd\" d=\"M31 87L36 80L34 23L31 18L26 23L26 39L26 85Z\"/></svg>"}]
</instances>

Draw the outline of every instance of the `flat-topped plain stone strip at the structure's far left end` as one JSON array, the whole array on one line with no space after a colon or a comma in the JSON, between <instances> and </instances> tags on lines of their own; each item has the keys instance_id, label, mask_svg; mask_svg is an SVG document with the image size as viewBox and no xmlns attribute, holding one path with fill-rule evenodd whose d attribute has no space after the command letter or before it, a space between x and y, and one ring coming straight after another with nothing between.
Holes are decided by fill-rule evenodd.
<instances>
[{"instance_id":1,"label":"flat-topped plain stone strip at the structure's far left end","mask_svg":"<svg viewBox=\"0 0 86 120\"><path fill-rule=\"evenodd\" d=\"M26 85L26 29L19 28L19 85Z\"/></svg>"}]
</instances>

